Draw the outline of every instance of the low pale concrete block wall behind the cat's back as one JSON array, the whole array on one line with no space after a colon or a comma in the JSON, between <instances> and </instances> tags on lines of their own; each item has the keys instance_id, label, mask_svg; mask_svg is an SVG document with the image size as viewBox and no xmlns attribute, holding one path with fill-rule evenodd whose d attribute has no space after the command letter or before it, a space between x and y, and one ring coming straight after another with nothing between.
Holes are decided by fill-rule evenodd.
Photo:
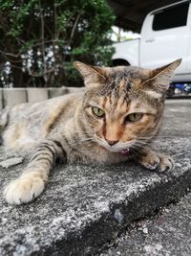
<instances>
[{"instance_id":1,"label":"low pale concrete block wall behind the cat's back","mask_svg":"<svg viewBox=\"0 0 191 256\"><path fill-rule=\"evenodd\" d=\"M41 102L81 90L83 88L65 86L60 88L3 88L0 89L0 110L7 105Z\"/></svg>"}]
</instances>

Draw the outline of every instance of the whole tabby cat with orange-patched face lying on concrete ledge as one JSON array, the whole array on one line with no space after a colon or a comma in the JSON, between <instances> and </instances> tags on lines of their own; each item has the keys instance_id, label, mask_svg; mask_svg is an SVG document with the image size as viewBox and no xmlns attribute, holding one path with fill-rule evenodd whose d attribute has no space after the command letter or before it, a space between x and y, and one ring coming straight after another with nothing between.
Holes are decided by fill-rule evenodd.
<instances>
[{"instance_id":1,"label":"whole tabby cat with orange-patched face lying on concrete ledge","mask_svg":"<svg viewBox=\"0 0 191 256\"><path fill-rule=\"evenodd\" d=\"M172 170L172 158L152 151L148 141L159 131L165 92L180 61L155 70L75 61L84 92L4 109L0 128L6 150L33 151L23 174L5 188L6 200L21 204L38 197L57 158L112 164L136 156L149 170Z\"/></svg>"}]
</instances>

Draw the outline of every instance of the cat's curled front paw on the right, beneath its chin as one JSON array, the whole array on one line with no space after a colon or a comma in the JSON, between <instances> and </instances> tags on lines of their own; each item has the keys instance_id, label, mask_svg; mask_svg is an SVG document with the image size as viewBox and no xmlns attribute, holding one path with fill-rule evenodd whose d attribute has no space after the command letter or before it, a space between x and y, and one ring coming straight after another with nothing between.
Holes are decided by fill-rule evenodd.
<instances>
[{"instance_id":1,"label":"cat's curled front paw on the right, beneath its chin","mask_svg":"<svg viewBox=\"0 0 191 256\"><path fill-rule=\"evenodd\" d=\"M149 170L166 172L174 169L174 160L168 156L146 147L139 152L138 162Z\"/></svg>"}]
</instances>

